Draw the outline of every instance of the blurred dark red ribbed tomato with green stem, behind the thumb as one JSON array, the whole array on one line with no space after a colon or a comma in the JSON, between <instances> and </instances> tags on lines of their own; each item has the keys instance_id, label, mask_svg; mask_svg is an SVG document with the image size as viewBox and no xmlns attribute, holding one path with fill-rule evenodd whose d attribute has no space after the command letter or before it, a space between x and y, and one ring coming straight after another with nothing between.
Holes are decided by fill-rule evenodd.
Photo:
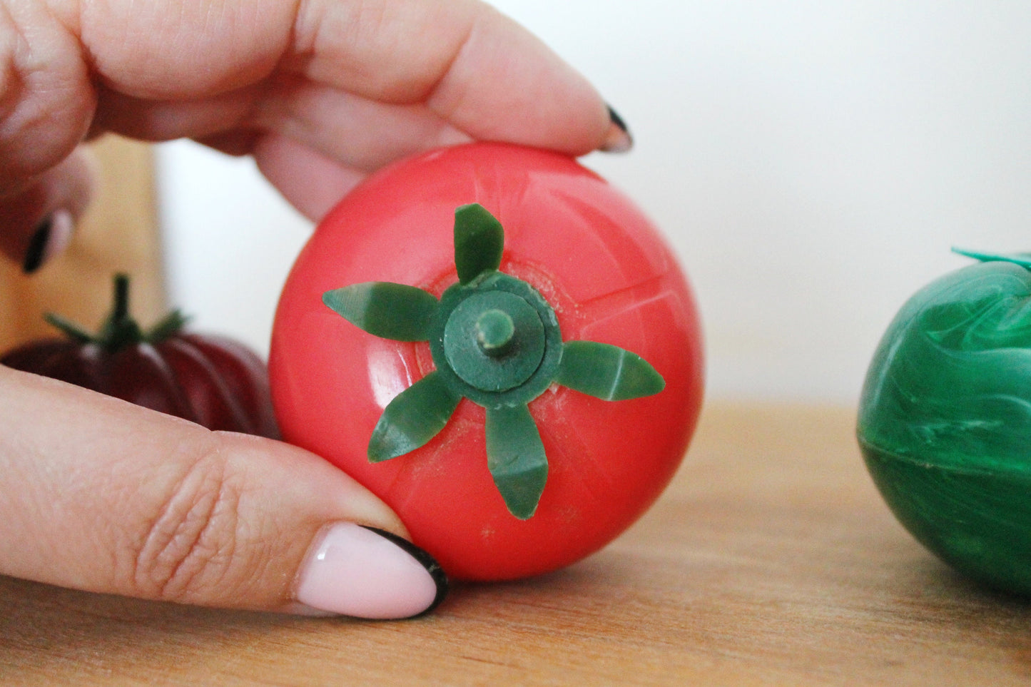
<instances>
[{"instance_id":1,"label":"blurred dark red ribbed tomato with green stem, behind the thumb","mask_svg":"<svg viewBox=\"0 0 1031 687\"><path fill-rule=\"evenodd\" d=\"M171 313L152 330L129 317L129 280L114 277L114 306L92 336L56 316L65 338L19 347L0 364L122 398L208 429L278 438L265 363L242 343L182 331Z\"/></svg>"}]
</instances>

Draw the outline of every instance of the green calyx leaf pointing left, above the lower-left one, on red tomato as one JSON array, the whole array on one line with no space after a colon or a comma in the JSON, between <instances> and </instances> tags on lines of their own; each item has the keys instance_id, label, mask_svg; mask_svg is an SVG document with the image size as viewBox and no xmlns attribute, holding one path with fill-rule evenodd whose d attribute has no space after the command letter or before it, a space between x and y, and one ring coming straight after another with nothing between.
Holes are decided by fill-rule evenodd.
<instances>
[{"instance_id":1,"label":"green calyx leaf pointing left, above the lower-left one, on red tomato","mask_svg":"<svg viewBox=\"0 0 1031 687\"><path fill-rule=\"evenodd\" d=\"M428 340L438 305L427 291L390 282L327 291L323 302L356 327L395 341Z\"/></svg>"}]
</instances>

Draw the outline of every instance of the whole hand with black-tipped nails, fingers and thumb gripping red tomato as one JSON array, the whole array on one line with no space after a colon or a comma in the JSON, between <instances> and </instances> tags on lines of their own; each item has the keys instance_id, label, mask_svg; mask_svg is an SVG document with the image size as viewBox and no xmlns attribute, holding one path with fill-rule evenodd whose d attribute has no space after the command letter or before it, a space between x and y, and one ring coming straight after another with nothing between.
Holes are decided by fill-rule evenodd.
<instances>
[{"instance_id":1,"label":"whole hand with black-tipped nails, fingers and thumb gripping red tomato","mask_svg":"<svg viewBox=\"0 0 1031 687\"><path fill-rule=\"evenodd\" d=\"M0 8L0 250L27 271L67 243L91 186L79 143L105 131L253 154L311 218L440 144L630 142L583 77L474 0ZM2 574L377 618L446 588L396 515L317 456L6 368L0 465Z\"/></svg>"}]
</instances>

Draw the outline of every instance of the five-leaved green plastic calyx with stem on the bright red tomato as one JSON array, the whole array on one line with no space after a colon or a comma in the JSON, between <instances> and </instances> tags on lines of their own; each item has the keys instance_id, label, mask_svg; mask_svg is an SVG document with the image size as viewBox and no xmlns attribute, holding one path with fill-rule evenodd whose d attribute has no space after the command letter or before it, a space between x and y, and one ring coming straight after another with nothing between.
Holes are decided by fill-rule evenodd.
<instances>
[{"instance_id":1,"label":"five-leaved green plastic calyx with stem on the bright red tomato","mask_svg":"<svg viewBox=\"0 0 1031 687\"><path fill-rule=\"evenodd\" d=\"M499 271L501 224L472 203L455 211L459 281L438 300L415 287L373 282L323 294L323 302L364 331L429 341L436 369L392 400L369 441L369 460L396 458L429 443L464 398L487 408L487 467L508 512L537 510L547 457L528 404L558 383L604 400L662 391L662 375L640 356L594 341L562 340L551 304L528 283Z\"/></svg>"}]
</instances>

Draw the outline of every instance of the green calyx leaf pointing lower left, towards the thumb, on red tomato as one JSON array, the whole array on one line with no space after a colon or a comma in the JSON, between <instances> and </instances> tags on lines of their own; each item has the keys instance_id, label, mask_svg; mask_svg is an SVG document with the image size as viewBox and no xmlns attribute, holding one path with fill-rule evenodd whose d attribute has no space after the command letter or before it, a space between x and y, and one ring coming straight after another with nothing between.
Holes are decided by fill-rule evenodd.
<instances>
[{"instance_id":1,"label":"green calyx leaf pointing lower left, towards the thumb, on red tomato","mask_svg":"<svg viewBox=\"0 0 1031 687\"><path fill-rule=\"evenodd\" d=\"M461 399L439 372L430 372L387 405L369 439L369 460L377 463L425 446L444 428Z\"/></svg>"}]
</instances>

